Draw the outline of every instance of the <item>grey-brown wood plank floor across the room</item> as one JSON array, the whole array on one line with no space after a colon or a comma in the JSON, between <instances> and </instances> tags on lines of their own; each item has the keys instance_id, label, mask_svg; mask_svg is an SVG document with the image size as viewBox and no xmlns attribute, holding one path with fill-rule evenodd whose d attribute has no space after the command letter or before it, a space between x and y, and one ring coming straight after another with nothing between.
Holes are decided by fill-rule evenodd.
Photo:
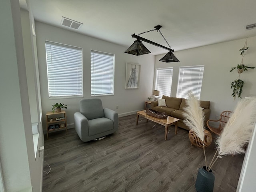
<instances>
[{"instance_id":1,"label":"grey-brown wood plank floor across the room","mask_svg":"<svg viewBox=\"0 0 256 192\"><path fill-rule=\"evenodd\" d=\"M142 121L140 121L142 120ZM43 192L196 192L203 150L191 146L188 131L174 126L164 140L164 126L136 115L119 118L119 128L103 140L82 142L72 128L49 134ZM152 128L152 126L154 126ZM206 148L208 161L214 142ZM235 192L244 156L224 156L213 167L214 192ZM44 170L49 168L44 163Z\"/></svg>"}]
</instances>

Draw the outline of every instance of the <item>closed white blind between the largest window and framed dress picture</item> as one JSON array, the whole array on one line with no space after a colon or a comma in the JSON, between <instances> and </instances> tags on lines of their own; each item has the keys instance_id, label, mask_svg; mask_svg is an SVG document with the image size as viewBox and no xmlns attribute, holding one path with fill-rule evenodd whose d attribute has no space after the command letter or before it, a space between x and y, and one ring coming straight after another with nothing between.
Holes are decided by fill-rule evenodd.
<instances>
[{"instance_id":1,"label":"closed white blind between the largest window and framed dress picture","mask_svg":"<svg viewBox=\"0 0 256 192\"><path fill-rule=\"evenodd\" d=\"M114 94L114 54L91 50L91 95Z\"/></svg>"}]
</instances>

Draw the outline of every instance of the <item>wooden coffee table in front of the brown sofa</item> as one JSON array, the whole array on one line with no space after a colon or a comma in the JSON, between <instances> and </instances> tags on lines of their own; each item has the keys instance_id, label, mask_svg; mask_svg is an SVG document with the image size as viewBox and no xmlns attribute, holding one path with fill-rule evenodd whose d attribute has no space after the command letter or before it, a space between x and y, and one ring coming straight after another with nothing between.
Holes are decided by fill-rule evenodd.
<instances>
[{"instance_id":1,"label":"wooden coffee table in front of the brown sofa","mask_svg":"<svg viewBox=\"0 0 256 192\"><path fill-rule=\"evenodd\" d=\"M159 118L147 115L146 111L142 110L142 111L137 112L136 125L138 125L139 116L142 116L142 117L146 118L147 122L148 122L148 120L151 120L155 123L158 123L160 125L165 126L165 134L164 134L164 139L165 140L167 139L168 127L170 125L175 125L175 134L177 134L177 128L178 128L177 122L178 122L179 119L176 119L176 118L173 118L173 117L170 117L170 116L168 116L166 119L159 119Z\"/></svg>"}]
</instances>

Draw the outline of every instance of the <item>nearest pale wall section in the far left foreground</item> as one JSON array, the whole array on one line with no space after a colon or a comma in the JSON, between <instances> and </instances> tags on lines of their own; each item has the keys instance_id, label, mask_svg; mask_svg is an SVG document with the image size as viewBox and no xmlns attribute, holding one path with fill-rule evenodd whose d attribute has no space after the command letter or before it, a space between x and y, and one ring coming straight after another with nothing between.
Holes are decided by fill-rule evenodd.
<instances>
[{"instance_id":1,"label":"nearest pale wall section in the far left foreground","mask_svg":"<svg viewBox=\"0 0 256 192\"><path fill-rule=\"evenodd\" d=\"M1 1L0 20L0 158L6 191L14 192L31 186L25 133L31 120L18 1Z\"/></svg>"}]
</instances>

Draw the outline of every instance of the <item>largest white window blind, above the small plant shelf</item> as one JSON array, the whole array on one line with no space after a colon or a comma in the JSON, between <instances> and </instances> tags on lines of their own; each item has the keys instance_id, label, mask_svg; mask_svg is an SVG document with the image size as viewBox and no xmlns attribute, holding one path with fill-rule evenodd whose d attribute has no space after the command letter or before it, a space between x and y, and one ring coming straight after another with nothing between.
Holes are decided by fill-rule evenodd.
<instances>
[{"instance_id":1,"label":"largest white window blind, above the small plant shelf","mask_svg":"<svg viewBox=\"0 0 256 192\"><path fill-rule=\"evenodd\" d=\"M83 96L82 48L46 41L49 98Z\"/></svg>"}]
</instances>

